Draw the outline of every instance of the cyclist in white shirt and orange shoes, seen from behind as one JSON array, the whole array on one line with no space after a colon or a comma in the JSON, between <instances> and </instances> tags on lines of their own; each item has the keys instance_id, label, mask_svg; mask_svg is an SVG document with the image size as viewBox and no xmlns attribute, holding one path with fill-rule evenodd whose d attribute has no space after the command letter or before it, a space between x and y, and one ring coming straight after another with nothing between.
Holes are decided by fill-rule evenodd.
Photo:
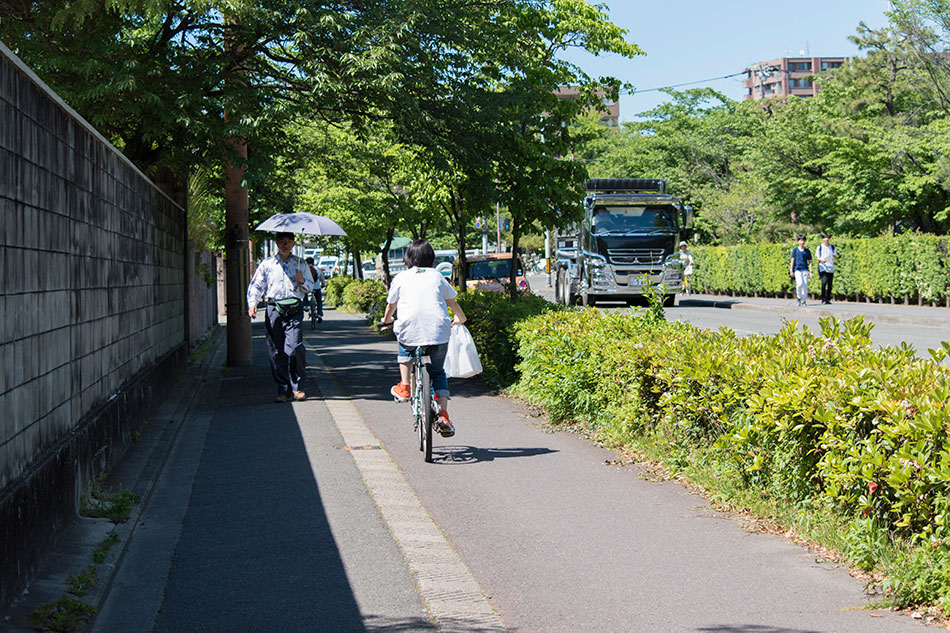
<instances>
[{"instance_id":1,"label":"cyclist in white shirt and orange shoes, seen from behind","mask_svg":"<svg viewBox=\"0 0 950 633\"><path fill-rule=\"evenodd\" d=\"M449 421L449 381L443 363L449 348L451 326L465 323L465 313L455 300L455 289L449 285L432 265L435 251L426 240L416 240L406 249L403 257L408 270L404 270L389 285L386 297L386 312L383 323L393 323L393 332L399 343L396 361L399 363L399 384L390 393L400 402L409 399L409 372L412 353L417 347L429 350L432 388L439 403L439 419L436 429L442 437L455 435L455 427ZM449 320L447 307L452 308L455 318Z\"/></svg>"}]
</instances>

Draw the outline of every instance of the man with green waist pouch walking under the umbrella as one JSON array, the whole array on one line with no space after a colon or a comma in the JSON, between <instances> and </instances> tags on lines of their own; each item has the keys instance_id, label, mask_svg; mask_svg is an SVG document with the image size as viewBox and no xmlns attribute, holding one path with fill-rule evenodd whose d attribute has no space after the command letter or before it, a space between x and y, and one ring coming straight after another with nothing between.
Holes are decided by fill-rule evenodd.
<instances>
[{"instance_id":1,"label":"man with green waist pouch walking under the umbrella","mask_svg":"<svg viewBox=\"0 0 950 633\"><path fill-rule=\"evenodd\" d=\"M300 324L313 276L307 262L293 254L293 233L277 233L275 241L277 254L260 263L247 287L247 314L256 317L257 304L264 299L267 355L277 383L277 402L290 402L307 397L300 389L307 368Z\"/></svg>"}]
</instances>

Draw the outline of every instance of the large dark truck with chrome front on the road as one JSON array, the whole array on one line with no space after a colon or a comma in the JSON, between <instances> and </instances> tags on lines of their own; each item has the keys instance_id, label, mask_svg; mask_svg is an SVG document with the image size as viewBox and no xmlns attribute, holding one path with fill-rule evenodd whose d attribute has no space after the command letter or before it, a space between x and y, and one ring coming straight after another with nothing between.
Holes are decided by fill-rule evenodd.
<instances>
[{"instance_id":1,"label":"large dark truck with chrome front on the road","mask_svg":"<svg viewBox=\"0 0 950 633\"><path fill-rule=\"evenodd\" d=\"M584 219L555 236L556 300L632 304L652 287L673 305L683 289L679 243L692 226L692 208L667 193L665 180L588 180Z\"/></svg>"}]
</instances>

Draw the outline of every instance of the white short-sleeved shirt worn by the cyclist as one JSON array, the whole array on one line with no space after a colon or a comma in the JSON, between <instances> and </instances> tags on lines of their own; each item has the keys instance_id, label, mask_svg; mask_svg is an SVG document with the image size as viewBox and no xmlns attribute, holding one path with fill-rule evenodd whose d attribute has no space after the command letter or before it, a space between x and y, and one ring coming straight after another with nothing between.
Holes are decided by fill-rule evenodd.
<instances>
[{"instance_id":1,"label":"white short-sleeved shirt worn by the cyclist","mask_svg":"<svg viewBox=\"0 0 950 633\"><path fill-rule=\"evenodd\" d=\"M445 300L457 294L435 268L413 267L396 275L386 297L396 304L396 339L409 347L448 343L452 320Z\"/></svg>"}]
</instances>

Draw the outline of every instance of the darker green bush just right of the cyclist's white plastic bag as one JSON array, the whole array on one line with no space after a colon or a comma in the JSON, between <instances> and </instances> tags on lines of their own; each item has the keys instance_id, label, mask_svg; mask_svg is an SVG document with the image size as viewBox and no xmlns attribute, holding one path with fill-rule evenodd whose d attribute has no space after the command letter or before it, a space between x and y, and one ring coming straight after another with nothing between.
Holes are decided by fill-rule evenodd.
<instances>
[{"instance_id":1,"label":"darker green bush just right of the cyclist's white plastic bag","mask_svg":"<svg viewBox=\"0 0 950 633\"><path fill-rule=\"evenodd\" d=\"M507 387L517 380L515 365L515 325L529 317L561 308L531 294L518 294L512 303L501 292L469 290L457 297L469 321L465 324L475 339L482 361L483 379L496 387Z\"/></svg>"}]
</instances>

